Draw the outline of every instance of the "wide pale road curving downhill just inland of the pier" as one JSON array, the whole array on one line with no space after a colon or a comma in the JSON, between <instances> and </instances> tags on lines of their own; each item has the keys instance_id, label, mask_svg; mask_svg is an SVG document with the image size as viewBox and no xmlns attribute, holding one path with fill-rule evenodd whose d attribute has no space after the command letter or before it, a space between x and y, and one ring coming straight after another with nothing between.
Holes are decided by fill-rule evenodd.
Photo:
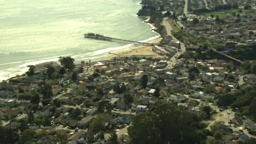
<instances>
[{"instance_id":1,"label":"wide pale road curving downhill just inland of the pier","mask_svg":"<svg viewBox=\"0 0 256 144\"><path fill-rule=\"evenodd\" d=\"M167 61L167 67L166 68L167 69L173 69L173 66L176 63L176 58L178 58L182 53L184 53L186 51L186 47L185 47L184 43L181 43L178 39L176 39L176 37L174 37L172 35L171 30L173 30L173 28L171 27L171 24L169 23L169 19L168 18L164 18L162 24L166 28L167 35L171 36L173 40L178 41L181 44L180 51L175 53L171 57L171 59L169 61Z\"/></svg>"}]
</instances>

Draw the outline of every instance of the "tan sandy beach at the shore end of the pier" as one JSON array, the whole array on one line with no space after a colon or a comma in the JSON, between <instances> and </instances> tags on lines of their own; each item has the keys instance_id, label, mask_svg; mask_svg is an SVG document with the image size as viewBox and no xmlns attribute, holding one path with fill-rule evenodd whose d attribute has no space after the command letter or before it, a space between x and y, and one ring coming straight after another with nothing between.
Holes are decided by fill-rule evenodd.
<instances>
[{"instance_id":1,"label":"tan sandy beach at the shore end of the pier","mask_svg":"<svg viewBox=\"0 0 256 144\"><path fill-rule=\"evenodd\" d=\"M162 37L158 37L157 39L153 40L150 43L159 43L162 40ZM160 56L157 53L152 51L153 46L136 46L133 48L125 48L119 51L111 51L110 53L115 54L109 54L105 57L105 59L111 59L116 56Z\"/></svg>"}]
</instances>

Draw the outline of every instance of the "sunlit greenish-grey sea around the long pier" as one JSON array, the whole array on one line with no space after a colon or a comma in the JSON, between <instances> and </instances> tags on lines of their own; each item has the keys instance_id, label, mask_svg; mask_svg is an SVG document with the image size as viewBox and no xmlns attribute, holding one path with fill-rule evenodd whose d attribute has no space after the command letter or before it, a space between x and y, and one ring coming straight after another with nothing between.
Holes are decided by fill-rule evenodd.
<instances>
[{"instance_id":1,"label":"sunlit greenish-grey sea around the long pier","mask_svg":"<svg viewBox=\"0 0 256 144\"><path fill-rule=\"evenodd\" d=\"M131 45L90 40L84 33L147 42L159 35L136 16L141 0L0 0L0 81L27 65L59 56L103 60Z\"/></svg>"}]
</instances>

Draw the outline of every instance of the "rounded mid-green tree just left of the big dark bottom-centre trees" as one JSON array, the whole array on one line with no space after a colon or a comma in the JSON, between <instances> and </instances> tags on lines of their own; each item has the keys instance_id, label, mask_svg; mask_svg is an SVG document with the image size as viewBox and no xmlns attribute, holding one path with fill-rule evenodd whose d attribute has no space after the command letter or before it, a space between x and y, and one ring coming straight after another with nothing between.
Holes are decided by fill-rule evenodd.
<instances>
[{"instance_id":1,"label":"rounded mid-green tree just left of the big dark bottom-centre trees","mask_svg":"<svg viewBox=\"0 0 256 144\"><path fill-rule=\"evenodd\" d=\"M90 129L93 132L99 132L101 130L104 130L105 128L105 119L103 115L96 115L93 119L93 122L90 125Z\"/></svg>"}]
</instances>

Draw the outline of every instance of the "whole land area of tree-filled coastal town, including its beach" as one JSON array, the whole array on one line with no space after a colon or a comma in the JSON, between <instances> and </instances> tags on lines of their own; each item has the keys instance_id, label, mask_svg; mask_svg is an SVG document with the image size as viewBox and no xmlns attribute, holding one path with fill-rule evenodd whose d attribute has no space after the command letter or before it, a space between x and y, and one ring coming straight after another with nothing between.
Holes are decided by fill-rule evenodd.
<instances>
[{"instance_id":1,"label":"whole land area of tree-filled coastal town, including its beach","mask_svg":"<svg viewBox=\"0 0 256 144\"><path fill-rule=\"evenodd\" d=\"M255 144L256 0L141 5L152 45L0 82L0 144Z\"/></svg>"}]
</instances>

